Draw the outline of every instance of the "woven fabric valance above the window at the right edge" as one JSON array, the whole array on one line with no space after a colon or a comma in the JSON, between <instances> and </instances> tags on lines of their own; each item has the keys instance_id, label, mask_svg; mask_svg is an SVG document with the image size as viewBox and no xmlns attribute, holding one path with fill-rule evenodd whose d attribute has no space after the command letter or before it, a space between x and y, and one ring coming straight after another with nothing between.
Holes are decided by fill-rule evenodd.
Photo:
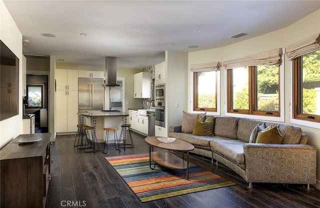
<instances>
[{"instance_id":1,"label":"woven fabric valance above the window at the right edge","mask_svg":"<svg viewBox=\"0 0 320 208\"><path fill-rule=\"evenodd\" d=\"M320 34L317 33L288 45L285 54L289 59L293 59L318 49L320 49Z\"/></svg>"}]
</instances>

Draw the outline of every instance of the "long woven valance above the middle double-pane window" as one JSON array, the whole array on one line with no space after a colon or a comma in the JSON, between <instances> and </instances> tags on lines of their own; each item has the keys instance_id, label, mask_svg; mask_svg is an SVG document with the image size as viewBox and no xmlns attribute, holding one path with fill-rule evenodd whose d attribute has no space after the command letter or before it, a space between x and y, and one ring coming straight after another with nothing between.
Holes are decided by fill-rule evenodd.
<instances>
[{"instance_id":1,"label":"long woven valance above the middle double-pane window","mask_svg":"<svg viewBox=\"0 0 320 208\"><path fill-rule=\"evenodd\" d=\"M224 69L253 65L280 65L282 48L275 48L259 53L254 53L241 58L235 58L222 62Z\"/></svg>"}]
</instances>

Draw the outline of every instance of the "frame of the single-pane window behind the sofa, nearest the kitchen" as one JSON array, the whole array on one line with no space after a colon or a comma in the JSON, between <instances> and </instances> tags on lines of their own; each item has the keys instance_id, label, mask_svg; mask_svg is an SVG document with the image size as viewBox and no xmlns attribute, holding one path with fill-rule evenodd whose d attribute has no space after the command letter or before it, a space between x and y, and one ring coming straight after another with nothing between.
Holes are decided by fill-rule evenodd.
<instances>
[{"instance_id":1,"label":"frame of the single-pane window behind the sofa, nearest the kitchen","mask_svg":"<svg viewBox=\"0 0 320 208\"><path fill-rule=\"evenodd\" d=\"M207 112L207 114L214 114L219 115L219 100L220 100L220 87L219 87L219 80L220 80L220 71L215 70L215 108L203 108L197 107L197 73L198 72L190 72L191 73L191 80L192 80L192 101L191 101L191 111L192 112Z\"/></svg>"}]
</instances>

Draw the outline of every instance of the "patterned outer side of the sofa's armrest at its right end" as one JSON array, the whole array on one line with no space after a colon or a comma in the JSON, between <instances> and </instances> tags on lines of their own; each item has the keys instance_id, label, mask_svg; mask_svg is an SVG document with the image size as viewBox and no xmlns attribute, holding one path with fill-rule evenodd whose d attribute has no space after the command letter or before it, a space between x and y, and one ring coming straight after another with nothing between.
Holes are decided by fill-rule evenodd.
<instances>
[{"instance_id":1,"label":"patterned outer side of the sofa's armrest at its right end","mask_svg":"<svg viewBox=\"0 0 320 208\"><path fill-rule=\"evenodd\" d=\"M316 149L307 144L243 145L247 182L316 183Z\"/></svg>"}]
</instances>

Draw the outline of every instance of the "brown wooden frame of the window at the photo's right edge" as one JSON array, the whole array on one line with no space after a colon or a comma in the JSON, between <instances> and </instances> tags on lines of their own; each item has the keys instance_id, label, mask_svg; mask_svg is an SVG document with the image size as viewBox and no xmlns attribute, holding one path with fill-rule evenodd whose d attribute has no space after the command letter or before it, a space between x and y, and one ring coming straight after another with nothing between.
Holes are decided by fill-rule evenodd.
<instances>
[{"instance_id":1,"label":"brown wooden frame of the window at the photo's right edge","mask_svg":"<svg viewBox=\"0 0 320 208\"><path fill-rule=\"evenodd\" d=\"M292 59L292 118L320 123L320 115L302 113L301 79L302 79L302 55ZM308 117L311 116L311 117Z\"/></svg>"}]
</instances>

